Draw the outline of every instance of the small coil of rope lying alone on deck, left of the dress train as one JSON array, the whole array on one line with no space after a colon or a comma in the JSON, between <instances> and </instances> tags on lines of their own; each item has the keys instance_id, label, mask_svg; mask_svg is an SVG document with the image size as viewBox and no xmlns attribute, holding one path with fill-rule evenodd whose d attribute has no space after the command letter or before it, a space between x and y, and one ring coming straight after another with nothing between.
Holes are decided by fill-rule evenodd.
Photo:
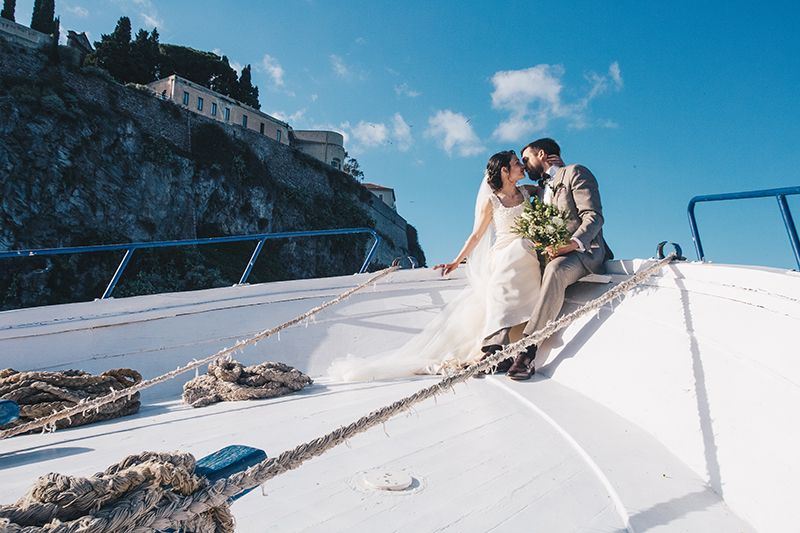
<instances>
[{"instance_id":1,"label":"small coil of rope lying alone on deck, left of the dress train","mask_svg":"<svg viewBox=\"0 0 800 533\"><path fill-rule=\"evenodd\" d=\"M299 391L313 381L284 363L244 366L237 361L213 361L208 374L183 385L183 401L192 407L217 402L275 398Z\"/></svg>"}]
</instances>

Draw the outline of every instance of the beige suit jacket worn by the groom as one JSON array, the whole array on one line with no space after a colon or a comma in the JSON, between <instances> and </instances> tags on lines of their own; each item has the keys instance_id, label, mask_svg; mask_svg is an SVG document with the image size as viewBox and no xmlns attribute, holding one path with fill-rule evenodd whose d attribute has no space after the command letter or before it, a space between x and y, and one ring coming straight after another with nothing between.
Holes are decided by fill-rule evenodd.
<instances>
[{"instance_id":1,"label":"beige suit jacket worn by the groom","mask_svg":"<svg viewBox=\"0 0 800 533\"><path fill-rule=\"evenodd\" d=\"M583 244L585 251L575 252L581 262L590 272L604 272L603 263L614 255L603 239L603 206L597 179L584 166L567 165L558 169L546 187L553 189L553 205L567 213L567 228L572 237ZM540 192L540 198L543 193Z\"/></svg>"}]
</instances>

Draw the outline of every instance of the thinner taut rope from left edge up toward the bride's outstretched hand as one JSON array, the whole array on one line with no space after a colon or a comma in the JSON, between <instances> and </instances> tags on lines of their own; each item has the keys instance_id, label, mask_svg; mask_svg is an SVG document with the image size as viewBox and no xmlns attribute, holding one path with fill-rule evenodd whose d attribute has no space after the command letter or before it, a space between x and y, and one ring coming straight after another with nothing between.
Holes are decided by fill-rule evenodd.
<instances>
[{"instance_id":1,"label":"thinner taut rope from left edge up toward the bride's outstretched hand","mask_svg":"<svg viewBox=\"0 0 800 533\"><path fill-rule=\"evenodd\" d=\"M293 318L293 319L291 319L291 320L289 320L287 322L284 322L283 324L281 324L279 326L275 326L273 328L261 331L260 333L257 333L257 334L255 334L254 336L252 336L252 337L250 337L248 339L237 341L233 346L231 346L229 348L223 348L222 350L218 351L217 353L215 353L213 355L210 355L210 356L205 357L205 358L200 359L200 360L192 361L191 363L189 363L187 365L184 365L182 367L178 367L175 370L172 370L171 372L167 372L167 373L162 374L160 376L157 376L155 378L146 379L146 380L141 381L141 382L137 383L136 385L133 385L133 386L127 388L127 389L113 391L113 392L111 392L111 393L109 393L109 394L107 394L105 396L101 396L100 398L97 398L95 400L91 400L91 401L85 401L84 400L84 401L81 401L78 405L75 405L74 407L70 407L68 409L64 409L64 410L59 411L57 413L53 413L53 414L51 414L49 416L44 416L44 417L38 418L36 420L33 420L31 422L28 422L28 423L25 423L25 424L20 424L20 425L18 425L16 427L0 431L0 440L7 439L8 437L13 437L14 435L19 435L20 433L27 433L28 431L31 431L31 430L34 430L34 429L38 429L38 428L42 428L42 427L53 427L53 424L55 424L59 420L64 420L66 418L70 418L72 416L75 416L75 415L78 415L78 414L81 414L81 413L85 413L86 411L90 411L92 409L99 409L100 407L102 407L102 406L104 406L106 404L115 402L115 401L117 401L117 400L119 400L120 398L123 398L123 397L132 397L133 394L136 393L136 392L139 392L141 390L150 388L150 387L152 387L154 385L158 385L159 383L163 383L165 381L173 379L176 376L179 376L179 375L181 375L181 374L183 374L185 372L189 372L190 370L194 370L195 368L201 367L201 366L203 366L203 365L205 365L207 363L210 363L212 361L216 361L217 359L220 359L222 357L230 356L231 354L233 354L236 351L243 350L247 346L252 346L252 345L258 343L259 341L266 339L267 337L270 337L270 336L272 336L272 335L274 335L276 333L279 333L280 331L282 331L284 329L290 328L290 327L292 327L292 326L294 326L296 324L299 324L299 323L303 322L304 320L310 319L312 316L316 315L320 311L323 311L324 309L327 309L328 307L347 299L352 294L360 291L361 289L369 286L372 283L375 283L379 279L381 279L381 278L383 278L385 276L388 276L389 274L393 273L394 271L398 270L399 268L400 267L397 266L397 265L391 266L389 268L385 268L385 269L381 270L380 272L378 272L377 274L375 274L374 276L372 276L371 278L369 278L367 281L365 281L361 285L358 285L356 287L353 287L351 289L348 289L348 290L344 291L343 293L341 293L340 295L336 296L332 300L328 300L327 302L324 302L324 303L318 305L317 307L309 309L305 313L303 313L303 314L301 314L301 315L299 315L299 316L297 316L297 317L295 317L295 318Z\"/></svg>"}]
</instances>

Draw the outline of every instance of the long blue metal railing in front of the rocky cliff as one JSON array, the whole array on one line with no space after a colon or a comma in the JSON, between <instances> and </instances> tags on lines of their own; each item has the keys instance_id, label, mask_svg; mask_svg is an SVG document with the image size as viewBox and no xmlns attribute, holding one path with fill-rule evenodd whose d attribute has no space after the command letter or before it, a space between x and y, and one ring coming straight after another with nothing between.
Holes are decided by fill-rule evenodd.
<instances>
[{"instance_id":1,"label":"long blue metal railing in front of the rocky cliff","mask_svg":"<svg viewBox=\"0 0 800 533\"><path fill-rule=\"evenodd\" d=\"M359 269L359 273L364 273L367 271L367 267L372 262L372 257L375 255L375 250L378 248L378 244L381 242L381 238L378 233L371 228L346 228L346 229L323 229L323 230L310 230L310 231L287 231L283 233L258 233L254 235L232 235L230 237L210 237L207 239L185 239L180 241L156 241L156 242L132 242L128 244L101 244L97 246L73 246L68 248L40 248L38 250L11 250L7 252L0 252L0 259L5 258L14 258L14 257L43 257L43 256L51 256L51 255L69 255L69 254L83 254L83 253L92 253L92 252L112 252L114 250L125 250L125 255L120 261L119 266L117 267L117 271L114 273L114 276L111 278L111 281L106 287L105 292L101 296L102 299L109 298L111 293L114 291L114 287L117 286L119 279L122 277L122 273L125 272L125 268L128 266L128 263L133 256L133 252L136 250L146 250L149 248L168 248L172 246L193 246L193 245L203 245L203 244L221 244L226 242L241 242L241 241L258 241L256 244L255 250L253 250L253 254L250 256L250 261L247 262L247 266L242 273L242 277L239 280L239 285L246 283L247 278L250 276L250 272L253 270L253 266L256 263L256 259L258 259L259 254L261 253L261 249L264 247L264 243L268 240L272 239L291 239L295 237L321 237L325 235L352 235L355 233L369 233L375 239L375 242L372 243L369 251L367 252L367 256L364 258L364 263L361 265L361 269Z\"/></svg>"}]
</instances>

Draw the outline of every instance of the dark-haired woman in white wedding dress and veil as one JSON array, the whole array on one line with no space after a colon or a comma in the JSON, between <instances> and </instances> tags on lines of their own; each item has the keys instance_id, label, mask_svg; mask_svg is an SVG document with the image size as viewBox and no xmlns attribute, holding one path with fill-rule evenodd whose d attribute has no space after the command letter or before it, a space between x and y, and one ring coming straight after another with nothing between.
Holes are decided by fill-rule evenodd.
<instances>
[{"instance_id":1,"label":"dark-haired woman in white wedding dress and veil","mask_svg":"<svg viewBox=\"0 0 800 533\"><path fill-rule=\"evenodd\" d=\"M530 241L512 231L536 188L517 186L524 167L513 150L489 158L475 202L475 223L456 258L434 269L449 274L468 259L468 285L419 334L399 349L369 359L338 359L328 375L344 381L437 374L502 349L512 327L531 316L541 271ZM479 332L476 335L476 332ZM508 369L511 360L498 366Z\"/></svg>"}]
</instances>

